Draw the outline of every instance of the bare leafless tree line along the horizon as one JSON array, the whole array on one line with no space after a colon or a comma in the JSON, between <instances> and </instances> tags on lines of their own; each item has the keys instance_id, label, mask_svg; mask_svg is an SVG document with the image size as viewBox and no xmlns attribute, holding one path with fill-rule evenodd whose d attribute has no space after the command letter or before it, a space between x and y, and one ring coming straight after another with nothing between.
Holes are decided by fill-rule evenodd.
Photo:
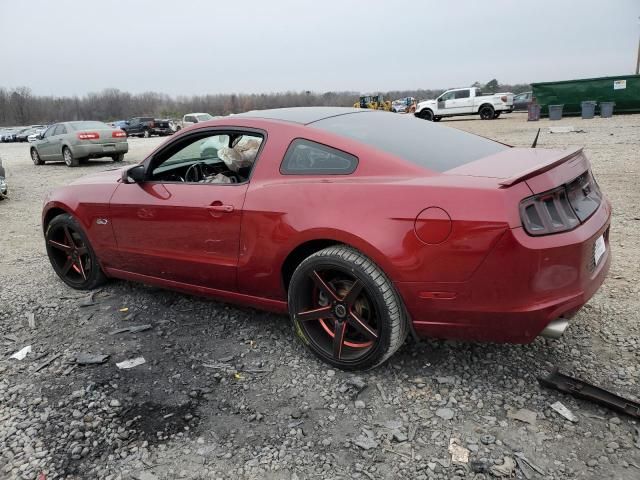
<instances>
[{"instance_id":1,"label":"bare leafless tree line along the horizon","mask_svg":"<svg viewBox=\"0 0 640 480\"><path fill-rule=\"evenodd\" d=\"M473 86L482 86L479 82ZM529 90L527 84L501 85L493 79L484 85L494 91L519 93ZM380 92L386 100L415 97L418 100L435 98L444 89L393 90ZM375 92L377 93L377 92ZM132 94L115 88L89 93L82 97L34 95L28 87L0 87L0 125L17 126L50 124L73 120L128 119L137 115L160 118L182 118L190 112L228 115L249 110L282 107L336 106L349 107L358 101L359 92L279 92L252 94L208 94L172 97L164 93Z\"/></svg>"}]
</instances>

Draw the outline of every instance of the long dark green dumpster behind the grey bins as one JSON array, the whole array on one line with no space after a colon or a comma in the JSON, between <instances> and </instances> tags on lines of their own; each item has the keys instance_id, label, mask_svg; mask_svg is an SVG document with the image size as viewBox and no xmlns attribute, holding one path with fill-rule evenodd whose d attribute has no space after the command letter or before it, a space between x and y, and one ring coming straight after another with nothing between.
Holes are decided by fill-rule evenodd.
<instances>
[{"instance_id":1,"label":"long dark green dumpster behind the grey bins","mask_svg":"<svg viewBox=\"0 0 640 480\"><path fill-rule=\"evenodd\" d=\"M580 115L583 101L615 102L616 113L640 112L640 75L532 83L533 96L549 115L549 105L564 105L563 115Z\"/></svg>"}]
</instances>

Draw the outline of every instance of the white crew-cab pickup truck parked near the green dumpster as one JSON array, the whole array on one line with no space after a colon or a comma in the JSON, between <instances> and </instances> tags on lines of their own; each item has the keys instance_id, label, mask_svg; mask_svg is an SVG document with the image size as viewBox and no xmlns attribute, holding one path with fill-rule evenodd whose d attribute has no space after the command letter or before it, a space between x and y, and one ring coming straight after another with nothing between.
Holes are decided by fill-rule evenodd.
<instances>
[{"instance_id":1,"label":"white crew-cab pickup truck parked near the green dumpster","mask_svg":"<svg viewBox=\"0 0 640 480\"><path fill-rule=\"evenodd\" d=\"M443 117L480 114L483 120L513 111L513 93L482 95L476 87L447 90L435 100L424 100L416 107L416 117L438 122Z\"/></svg>"}]
</instances>

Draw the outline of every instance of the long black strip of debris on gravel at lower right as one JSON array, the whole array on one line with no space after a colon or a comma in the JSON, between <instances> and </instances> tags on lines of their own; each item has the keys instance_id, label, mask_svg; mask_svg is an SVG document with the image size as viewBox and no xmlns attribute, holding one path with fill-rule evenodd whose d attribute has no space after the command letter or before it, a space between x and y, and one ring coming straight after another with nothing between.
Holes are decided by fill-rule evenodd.
<instances>
[{"instance_id":1,"label":"long black strip of debris on gravel at lower right","mask_svg":"<svg viewBox=\"0 0 640 480\"><path fill-rule=\"evenodd\" d=\"M583 380L564 375L558 371L557 367L547 377L538 378L538 382L543 387L555 388L574 397L589 400L612 410L640 418L640 403L620 397Z\"/></svg>"}]
</instances>

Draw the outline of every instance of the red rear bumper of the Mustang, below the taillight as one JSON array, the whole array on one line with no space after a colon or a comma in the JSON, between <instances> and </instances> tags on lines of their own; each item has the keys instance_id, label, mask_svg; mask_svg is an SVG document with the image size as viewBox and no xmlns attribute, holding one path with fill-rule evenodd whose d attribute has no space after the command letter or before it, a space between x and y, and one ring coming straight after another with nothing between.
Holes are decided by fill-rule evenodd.
<instances>
[{"instance_id":1,"label":"red rear bumper of the Mustang, below the taillight","mask_svg":"<svg viewBox=\"0 0 640 480\"><path fill-rule=\"evenodd\" d=\"M579 228L530 237L504 233L466 282L398 282L416 333L423 337L529 343L559 318L571 318L604 282L611 263L611 208L604 200ZM596 239L606 252L593 264Z\"/></svg>"}]
</instances>

